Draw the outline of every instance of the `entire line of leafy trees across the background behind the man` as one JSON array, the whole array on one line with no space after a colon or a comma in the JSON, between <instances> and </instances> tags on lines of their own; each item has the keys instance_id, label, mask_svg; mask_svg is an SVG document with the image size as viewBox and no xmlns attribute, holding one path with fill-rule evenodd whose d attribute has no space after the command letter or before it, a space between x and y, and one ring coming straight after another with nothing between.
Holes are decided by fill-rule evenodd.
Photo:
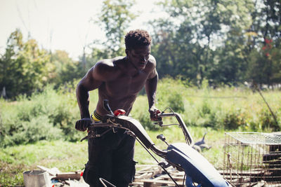
<instances>
[{"instance_id":1,"label":"entire line of leafy trees across the background behind the man","mask_svg":"<svg viewBox=\"0 0 281 187\"><path fill-rule=\"evenodd\" d=\"M96 14L106 39L89 43L90 54L79 62L63 50L39 48L23 40L19 29L8 37L0 57L1 96L32 95L52 83L55 88L81 78L101 59L124 54L124 35L134 1L105 0ZM255 82L276 86L281 81L280 1L166 0L158 6L169 15L148 22L152 26L152 55L160 78L181 77L214 87Z\"/></svg>"}]
</instances>

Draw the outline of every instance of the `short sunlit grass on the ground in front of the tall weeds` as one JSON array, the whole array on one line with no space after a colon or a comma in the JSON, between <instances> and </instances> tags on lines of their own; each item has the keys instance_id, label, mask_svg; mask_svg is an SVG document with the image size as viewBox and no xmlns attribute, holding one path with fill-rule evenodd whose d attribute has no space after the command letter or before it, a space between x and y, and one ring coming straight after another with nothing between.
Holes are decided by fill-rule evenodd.
<instances>
[{"instance_id":1,"label":"short sunlit grass on the ground in front of the tall weeds","mask_svg":"<svg viewBox=\"0 0 281 187\"><path fill-rule=\"evenodd\" d=\"M202 127L190 127L190 132L195 141L200 140L204 132L208 132L206 142L212 148L202 154L214 164L221 167L218 162L223 147L223 132ZM156 139L157 134L165 134L169 143L184 141L178 127L169 127L159 131L149 131L148 134L160 148L166 146ZM84 133L81 132L81 137ZM217 142L222 144L217 144ZM52 168L57 167L61 172L74 172L84 169L87 161L87 142L69 141L38 141L34 144L19 145L3 148L0 152L0 184L1 186L23 185L22 172L38 169L37 165ZM135 158L138 164L157 164L155 160L137 142ZM159 157L157 157L159 160Z\"/></svg>"}]
</instances>

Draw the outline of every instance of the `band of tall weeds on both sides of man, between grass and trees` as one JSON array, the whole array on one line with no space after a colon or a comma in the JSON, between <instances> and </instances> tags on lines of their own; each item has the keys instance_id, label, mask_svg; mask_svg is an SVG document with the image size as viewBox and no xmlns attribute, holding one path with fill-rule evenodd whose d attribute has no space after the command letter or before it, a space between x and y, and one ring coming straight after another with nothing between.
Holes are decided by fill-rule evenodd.
<instances>
[{"instance_id":1,"label":"band of tall weeds on both sides of man, between grass and trees","mask_svg":"<svg viewBox=\"0 0 281 187\"><path fill-rule=\"evenodd\" d=\"M206 82L206 81L205 81ZM280 130L280 91L263 90L277 123L257 92L249 88L221 87L212 89L203 81L202 88L180 79L163 78L157 88L156 106L171 107L181 113L188 126L221 130ZM97 90L90 92L89 110L98 102ZM150 120L148 99L139 95L131 111L147 130L159 130ZM44 92L31 97L18 97L16 102L0 99L0 146L27 144L41 139L77 141L84 134L74 129L79 119L75 84L63 85L59 91L47 86Z\"/></svg>"}]
</instances>

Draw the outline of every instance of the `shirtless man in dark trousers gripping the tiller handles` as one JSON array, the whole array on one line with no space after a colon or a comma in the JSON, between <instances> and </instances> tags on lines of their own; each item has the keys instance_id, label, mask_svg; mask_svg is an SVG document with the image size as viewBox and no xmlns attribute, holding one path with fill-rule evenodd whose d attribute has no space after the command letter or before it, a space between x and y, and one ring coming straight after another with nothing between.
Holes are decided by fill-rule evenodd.
<instances>
[{"instance_id":1,"label":"shirtless man in dark trousers gripping the tiller handles","mask_svg":"<svg viewBox=\"0 0 281 187\"><path fill-rule=\"evenodd\" d=\"M103 109L103 100L109 101L112 111L124 109L126 116L131 112L138 92L145 86L148 95L150 118L157 120L155 95L158 74L155 58L150 55L151 37L144 30L133 30L126 34L126 57L101 60L92 67L77 85L77 101L81 120L75 128L85 131L92 120L98 122L108 112ZM90 116L89 91L98 89L98 104ZM101 134L106 128L96 128ZM108 131L102 137L88 140L89 161L84 170L84 180L90 186L102 186L99 178L115 186L129 186L135 174L133 161L135 139L124 134L124 130Z\"/></svg>"}]
</instances>

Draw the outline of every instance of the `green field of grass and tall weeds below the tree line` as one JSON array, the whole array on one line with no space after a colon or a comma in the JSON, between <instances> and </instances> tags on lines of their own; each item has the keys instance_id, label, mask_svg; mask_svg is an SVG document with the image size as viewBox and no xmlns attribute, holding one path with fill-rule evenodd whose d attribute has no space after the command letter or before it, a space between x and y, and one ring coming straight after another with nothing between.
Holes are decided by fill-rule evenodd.
<instances>
[{"instance_id":1,"label":"green field of grass and tall weeds below the tree line","mask_svg":"<svg viewBox=\"0 0 281 187\"><path fill-rule=\"evenodd\" d=\"M166 78L159 82L157 106L161 110L170 106L181 113L195 141L207 132L205 141L211 149L202 154L221 169L224 132L280 130L281 92L263 90L262 94L275 113L277 123L259 92L243 86L213 89L203 84L202 88L195 88ZM97 93L92 92L91 111L97 98ZM57 167L62 172L84 169L87 144L79 141L85 133L74 130L74 122L79 118L74 86L60 92L48 87L44 92L29 98L20 97L15 102L1 99L0 106L1 186L22 185L22 172L37 165ZM169 143L183 141L178 127L160 129L152 125L145 95L138 96L131 114L141 121L161 148L164 144L156 139L157 134L164 134ZM173 121L167 119L165 123ZM156 163L138 143L135 160L138 164Z\"/></svg>"}]
</instances>

